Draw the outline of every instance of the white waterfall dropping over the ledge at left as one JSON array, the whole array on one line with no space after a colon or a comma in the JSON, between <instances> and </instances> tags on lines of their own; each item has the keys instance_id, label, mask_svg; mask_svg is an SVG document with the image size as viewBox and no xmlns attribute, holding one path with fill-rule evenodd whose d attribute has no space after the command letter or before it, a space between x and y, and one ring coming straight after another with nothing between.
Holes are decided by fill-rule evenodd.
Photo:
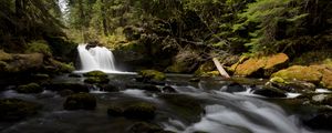
<instances>
[{"instance_id":1,"label":"white waterfall dropping over the ledge at left","mask_svg":"<svg viewBox=\"0 0 332 133\"><path fill-rule=\"evenodd\" d=\"M104 72L116 72L112 51L105 47L95 47L87 50L86 45L87 44L80 44L77 47L81 61L80 71L100 70Z\"/></svg>"}]
</instances>

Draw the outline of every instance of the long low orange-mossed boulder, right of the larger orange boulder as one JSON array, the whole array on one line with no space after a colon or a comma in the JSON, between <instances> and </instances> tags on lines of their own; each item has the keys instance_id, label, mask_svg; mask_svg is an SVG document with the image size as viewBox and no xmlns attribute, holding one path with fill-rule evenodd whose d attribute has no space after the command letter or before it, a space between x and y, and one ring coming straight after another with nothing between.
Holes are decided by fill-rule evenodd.
<instances>
[{"instance_id":1,"label":"long low orange-mossed boulder, right of the larger orange boulder","mask_svg":"<svg viewBox=\"0 0 332 133\"><path fill-rule=\"evenodd\" d=\"M288 69L273 73L272 78L274 76L279 76L284 80L300 80L312 83L319 83L323 74L311 66L292 65Z\"/></svg>"}]
</instances>

